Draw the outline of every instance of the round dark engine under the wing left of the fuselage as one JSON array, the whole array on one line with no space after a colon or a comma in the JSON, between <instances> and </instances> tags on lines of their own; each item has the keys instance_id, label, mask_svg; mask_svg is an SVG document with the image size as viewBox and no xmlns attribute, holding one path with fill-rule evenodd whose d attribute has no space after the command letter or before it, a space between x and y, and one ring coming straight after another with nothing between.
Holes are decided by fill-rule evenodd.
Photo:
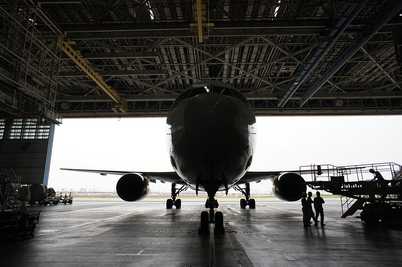
<instances>
[{"instance_id":1,"label":"round dark engine under the wing left of the fuselage","mask_svg":"<svg viewBox=\"0 0 402 267\"><path fill-rule=\"evenodd\" d=\"M116 192L125 201L138 201L148 196L149 181L139 174L128 173L119 179Z\"/></svg>"}]
</instances>

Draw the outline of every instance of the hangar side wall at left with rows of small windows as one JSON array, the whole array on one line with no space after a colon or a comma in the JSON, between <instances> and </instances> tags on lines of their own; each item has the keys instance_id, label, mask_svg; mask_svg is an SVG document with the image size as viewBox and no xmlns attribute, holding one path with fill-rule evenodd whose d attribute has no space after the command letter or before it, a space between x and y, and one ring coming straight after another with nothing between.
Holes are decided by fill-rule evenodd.
<instances>
[{"instance_id":1,"label":"hangar side wall at left with rows of small windows","mask_svg":"<svg viewBox=\"0 0 402 267\"><path fill-rule=\"evenodd\" d=\"M47 185L54 124L36 118L0 119L0 168L14 169L22 184Z\"/></svg>"}]
</instances>

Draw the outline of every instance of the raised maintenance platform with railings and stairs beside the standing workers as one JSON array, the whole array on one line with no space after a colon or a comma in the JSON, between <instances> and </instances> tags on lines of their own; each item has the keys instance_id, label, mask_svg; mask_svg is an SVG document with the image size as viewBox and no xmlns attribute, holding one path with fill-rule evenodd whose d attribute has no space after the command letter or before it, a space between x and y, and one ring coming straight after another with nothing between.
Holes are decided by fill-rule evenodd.
<instances>
[{"instance_id":1,"label":"raised maintenance platform with railings and stairs beside the standing workers","mask_svg":"<svg viewBox=\"0 0 402 267\"><path fill-rule=\"evenodd\" d=\"M378 163L336 167L333 165L302 166L300 171L315 170L308 186L341 196L342 218L362 210L360 216L367 223L402 223L402 166ZM384 182L372 181L373 169Z\"/></svg>"}]
</instances>

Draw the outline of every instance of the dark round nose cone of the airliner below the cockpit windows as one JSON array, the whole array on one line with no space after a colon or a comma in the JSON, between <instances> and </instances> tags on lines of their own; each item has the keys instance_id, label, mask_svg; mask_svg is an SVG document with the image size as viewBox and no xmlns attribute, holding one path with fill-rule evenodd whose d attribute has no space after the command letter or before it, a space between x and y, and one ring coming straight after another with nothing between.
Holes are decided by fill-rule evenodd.
<instances>
[{"instance_id":1,"label":"dark round nose cone of the airliner below the cockpit windows","mask_svg":"<svg viewBox=\"0 0 402 267\"><path fill-rule=\"evenodd\" d=\"M237 104L231 97L222 94L197 95L185 109L184 126L189 136L196 139L194 142L206 141L211 145L224 142L238 130Z\"/></svg>"}]
</instances>

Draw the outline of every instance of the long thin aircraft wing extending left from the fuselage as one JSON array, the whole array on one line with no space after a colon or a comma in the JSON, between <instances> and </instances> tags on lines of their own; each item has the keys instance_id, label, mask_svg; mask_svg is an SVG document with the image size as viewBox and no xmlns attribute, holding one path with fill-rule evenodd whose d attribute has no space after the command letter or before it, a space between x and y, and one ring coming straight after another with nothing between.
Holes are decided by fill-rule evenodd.
<instances>
[{"instance_id":1,"label":"long thin aircraft wing extending left from the fuselage","mask_svg":"<svg viewBox=\"0 0 402 267\"><path fill-rule=\"evenodd\" d=\"M60 170L84 172L84 173L98 173L100 175L107 175L107 174L125 175L128 173L136 173L142 175L144 178L149 179L150 182L152 183L155 183L155 180L159 180L167 183L175 183L181 185L185 184L176 172L126 172L126 171L82 170L82 169L63 169L63 168Z\"/></svg>"}]
</instances>

